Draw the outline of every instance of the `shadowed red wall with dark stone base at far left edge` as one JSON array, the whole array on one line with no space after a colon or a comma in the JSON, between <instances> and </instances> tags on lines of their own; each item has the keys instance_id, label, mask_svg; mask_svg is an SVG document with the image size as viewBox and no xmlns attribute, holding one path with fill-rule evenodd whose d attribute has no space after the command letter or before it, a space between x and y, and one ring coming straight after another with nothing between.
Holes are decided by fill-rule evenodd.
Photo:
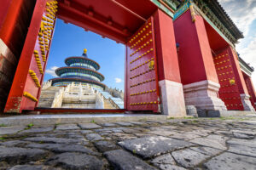
<instances>
[{"instance_id":1,"label":"shadowed red wall with dark stone base at far left edge","mask_svg":"<svg viewBox=\"0 0 256 170\"><path fill-rule=\"evenodd\" d=\"M11 53L0 55L0 112L9 95L36 0L1 0L0 38Z\"/></svg>"}]
</instances>

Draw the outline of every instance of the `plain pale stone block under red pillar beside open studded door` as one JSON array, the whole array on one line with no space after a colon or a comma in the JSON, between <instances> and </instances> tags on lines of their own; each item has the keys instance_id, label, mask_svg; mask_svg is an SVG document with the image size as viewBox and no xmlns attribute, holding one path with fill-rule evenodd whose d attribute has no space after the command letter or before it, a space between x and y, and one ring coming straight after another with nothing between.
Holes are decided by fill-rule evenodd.
<instances>
[{"instance_id":1,"label":"plain pale stone block under red pillar beside open studded door","mask_svg":"<svg viewBox=\"0 0 256 170\"><path fill-rule=\"evenodd\" d=\"M160 86L161 112L167 116L186 116L183 85L178 82L162 80Z\"/></svg>"}]
</instances>

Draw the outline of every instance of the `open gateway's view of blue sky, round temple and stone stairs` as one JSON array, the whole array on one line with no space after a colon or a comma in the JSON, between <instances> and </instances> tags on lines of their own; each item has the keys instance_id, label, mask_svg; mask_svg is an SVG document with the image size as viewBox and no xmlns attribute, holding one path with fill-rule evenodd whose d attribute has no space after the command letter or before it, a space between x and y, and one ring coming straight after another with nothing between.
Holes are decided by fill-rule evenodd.
<instances>
[{"instance_id":1,"label":"open gateway's view of blue sky, round temple and stone stairs","mask_svg":"<svg viewBox=\"0 0 256 170\"><path fill-rule=\"evenodd\" d=\"M124 80L124 44L57 19L37 109L124 109Z\"/></svg>"}]
</instances>

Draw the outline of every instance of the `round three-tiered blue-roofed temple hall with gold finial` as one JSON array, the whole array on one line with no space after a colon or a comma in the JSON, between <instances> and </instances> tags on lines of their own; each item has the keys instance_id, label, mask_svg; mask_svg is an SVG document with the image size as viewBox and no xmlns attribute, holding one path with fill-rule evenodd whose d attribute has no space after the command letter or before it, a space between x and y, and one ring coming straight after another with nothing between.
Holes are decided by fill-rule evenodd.
<instances>
[{"instance_id":1,"label":"round three-tiered blue-roofed temple hall with gold finial","mask_svg":"<svg viewBox=\"0 0 256 170\"><path fill-rule=\"evenodd\" d=\"M52 85L57 87L66 87L68 84L82 83L92 88L105 89L106 85L102 83L104 76L98 72L100 65L89 59L87 49L84 49L82 56L72 56L65 59L67 66L55 70L57 78L51 79Z\"/></svg>"}]
</instances>

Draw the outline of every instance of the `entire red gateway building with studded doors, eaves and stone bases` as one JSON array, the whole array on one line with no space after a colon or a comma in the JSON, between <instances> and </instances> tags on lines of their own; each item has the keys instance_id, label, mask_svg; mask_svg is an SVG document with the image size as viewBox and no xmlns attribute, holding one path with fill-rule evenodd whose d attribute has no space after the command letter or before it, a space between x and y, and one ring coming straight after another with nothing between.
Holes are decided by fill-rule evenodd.
<instances>
[{"instance_id":1,"label":"entire red gateway building with studded doors, eaves and stone bases","mask_svg":"<svg viewBox=\"0 0 256 170\"><path fill-rule=\"evenodd\" d=\"M12 65L0 67L0 92L4 94L0 98L0 110L8 93L5 112L33 111L36 107L55 19L60 18L125 44L126 111L185 116L185 105L207 111L225 111L227 107L254 111L254 100L249 99L255 94L249 87L252 82L245 81L241 72L250 77L253 68L237 58L235 50L237 40L243 36L217 0L14 2L5 0L0 7L0 64L3 61L14 64L14 69ZM217 38L212 39L216 34ZM225 53L220 54L218 50ZM226 70L230 65L232 74ZM230 91L236 92L236 96L231 96Z\"/></svg>"}]
</instances>

